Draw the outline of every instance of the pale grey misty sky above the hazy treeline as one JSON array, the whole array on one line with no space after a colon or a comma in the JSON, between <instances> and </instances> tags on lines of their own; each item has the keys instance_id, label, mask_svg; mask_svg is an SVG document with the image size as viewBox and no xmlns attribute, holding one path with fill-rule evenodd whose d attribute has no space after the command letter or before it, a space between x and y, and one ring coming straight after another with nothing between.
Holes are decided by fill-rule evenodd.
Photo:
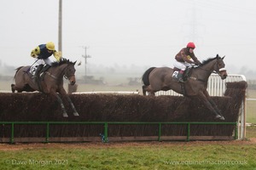
<instances>
[{"instance_id":1,"label":"pale grey misty sky above the hazy treeline","mask_svg":"<svg viewBox=\"0 0 256 170\"><path fill-rule=\"evenodd\" d=\"M63 57L91 65L171 66L187 42L203 60L226 56L231 73L255 70L255 0L62 0ZM0 3L0 58L31 65L32 48L58 44L58 0ZM236 70L237 69L237 70Z\"/></svg>"}]
</instances>

